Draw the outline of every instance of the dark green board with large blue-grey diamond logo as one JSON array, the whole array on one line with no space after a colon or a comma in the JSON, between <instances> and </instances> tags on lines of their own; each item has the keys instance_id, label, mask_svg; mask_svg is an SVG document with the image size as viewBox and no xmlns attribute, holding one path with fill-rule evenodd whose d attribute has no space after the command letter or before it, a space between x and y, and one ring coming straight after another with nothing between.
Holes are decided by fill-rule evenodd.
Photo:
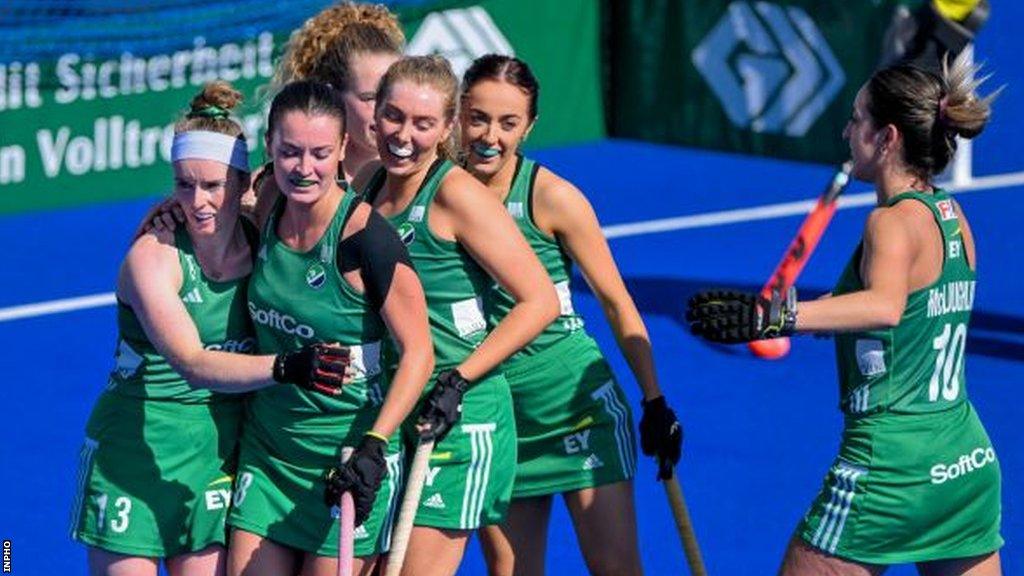
<instances>
[{"instance_id":1,"label":"dark green board with large blue-grey diamond logo","mask_svg":"<svg viewBox=\"0 0 1024 576\"><path fill-rule=\"evenodd\" d=\"M898 2L612 2L614 136L841 162Z\"/></svg>"}]
</instances>

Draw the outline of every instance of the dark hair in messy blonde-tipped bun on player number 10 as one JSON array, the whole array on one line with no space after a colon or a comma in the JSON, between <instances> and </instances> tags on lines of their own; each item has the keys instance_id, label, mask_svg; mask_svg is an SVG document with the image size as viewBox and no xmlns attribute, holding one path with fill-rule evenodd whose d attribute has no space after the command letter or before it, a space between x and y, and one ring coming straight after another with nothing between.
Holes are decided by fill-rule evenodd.
<instances>
[{"instance_id":1,"label":"dark hair in messy blonde-tipped bun on player number 10","mask_svg":"<svg viewBox=\"0 0 1024 576\"><path fill-rule=\"evenodd\" d=\"M910 65L896 65L874 73L867 81L867 112L876 127L892 124L903 136L903 161L924 180L942 172L956 154L956 136L973 138L984 130L998 92L979 96L988 76L965 51L942 75Z\"/></svg>"}]
</instances>

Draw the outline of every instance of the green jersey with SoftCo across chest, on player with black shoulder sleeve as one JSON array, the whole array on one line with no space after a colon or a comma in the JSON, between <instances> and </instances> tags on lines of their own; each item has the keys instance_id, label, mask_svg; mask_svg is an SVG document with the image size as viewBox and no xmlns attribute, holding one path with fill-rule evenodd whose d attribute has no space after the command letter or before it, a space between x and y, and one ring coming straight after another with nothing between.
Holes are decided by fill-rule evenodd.
<instances>
[{"instance_id":1,"label":"green jersey with SoftCo across chest, on player with black shoulder sleeve","mask_svg":"<svg viewBox=\"0 0 1024 576\"><path fill-rule=\"evenodd\" d=\"M278 199L263 229L256 265L249 280L249 315L260 354L298 349L314 342L338 342L349 348L351 380L342 394L328 397L295 385L257 390L250 402L253 418L280 429L321 423L315 416L350 413L368 402L383 404L381 343L387 328L380 315L338 271L336 251L358 197L344 193L319 241L299 252L278 237L286 200Z\"/></svg>"}]
</instances>

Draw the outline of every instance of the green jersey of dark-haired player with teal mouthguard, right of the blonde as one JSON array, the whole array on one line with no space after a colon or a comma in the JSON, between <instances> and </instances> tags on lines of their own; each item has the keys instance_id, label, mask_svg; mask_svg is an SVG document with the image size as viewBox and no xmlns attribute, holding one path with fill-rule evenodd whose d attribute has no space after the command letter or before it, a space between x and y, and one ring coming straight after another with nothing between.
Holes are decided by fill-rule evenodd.
<instances>
[{"instance_id":1,"label":"green jersey of dark-haired player with teal mouthguard, right of the blonde","mask_svg":"<svg viewBox=\"0 0 1024 576\"><path fill-rule=\"evenodd\" d=\"M548 271L551 282L558 292L558 303L561 312L554 322L544 329L544 332L517 352L510 361L534 356L546 349L551 344L583 328L583 317L572 308L572 292L569 290L569 276L572 260L562 248L557 239L549 237L534 221L534 182L540 165L528 158L518 157L515 175L512 177L512 188L505 198L505 207L515 219L519 231L526 238L529 247L534 249L544 269ZM488 298L494 301L490 321L497 324L508 315L515 305L515 298L497 283L492 288Z\"/></svg>"}]
</instances>

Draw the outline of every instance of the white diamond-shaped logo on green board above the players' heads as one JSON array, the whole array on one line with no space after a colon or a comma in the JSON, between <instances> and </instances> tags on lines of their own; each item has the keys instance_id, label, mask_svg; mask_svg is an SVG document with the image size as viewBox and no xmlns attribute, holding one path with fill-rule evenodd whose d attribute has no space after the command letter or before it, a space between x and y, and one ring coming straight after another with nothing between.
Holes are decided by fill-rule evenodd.
<instances>
[{"instance_id":1,"label":"white diamond-shaped logo on green board above the players' heads","mask_svg":"<svg viewBox=\"0 0 1024 576\"><path fill-rule=\"evenodd\" d=\"M475 58L490 52L515 53L495 20L480 6L428 14L406 48L408 54L446 57L459 78Z\"/></svg>"}]
</instances>

